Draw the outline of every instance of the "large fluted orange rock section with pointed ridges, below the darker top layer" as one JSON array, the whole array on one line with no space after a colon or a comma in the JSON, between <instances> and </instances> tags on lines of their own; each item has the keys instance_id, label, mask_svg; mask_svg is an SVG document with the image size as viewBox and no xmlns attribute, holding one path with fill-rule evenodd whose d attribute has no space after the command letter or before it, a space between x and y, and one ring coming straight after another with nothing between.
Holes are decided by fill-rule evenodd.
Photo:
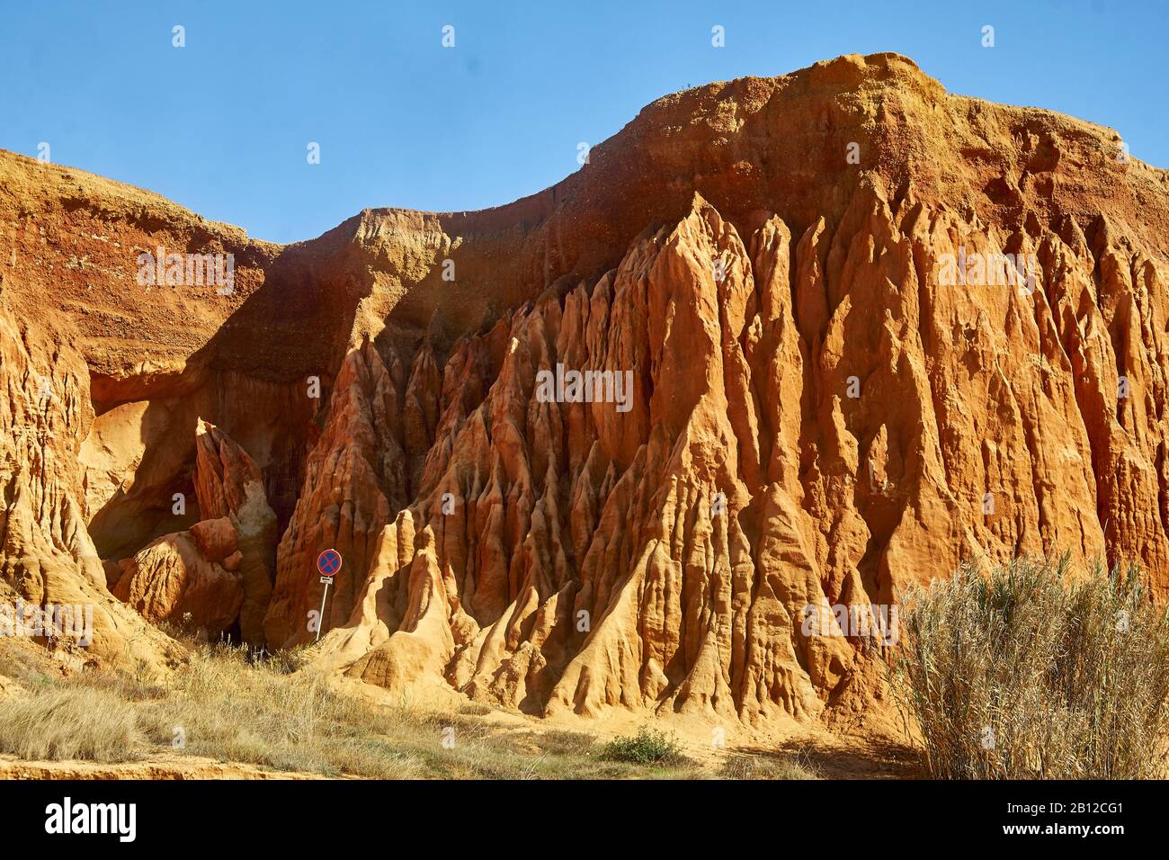
<instances>
[{"instance_id":1,"label":"large fluted orange rock section with pointed ridges, below the darker top layer","mask_svg":"<svg viewBox=\"0 0 1169 860\"><path fill-rule=\"evenodd\" d=\"M756 223L743 241L696 197L595 284L461 345L421 497L383 528L323 667L441 674L533 713L758 722L880 695L885 632L809 634L809 607L895 607L964 558L1140 557L1163 597L1164 529L1105 534L1126 521L1118 475L1132 509L1160 509L1126 463L1155 474L1164 427L1123 422L1153 417L1169 355L1153 317L1114 397L1115 353L1085 343L1116 328L1085 291L1107 239L1001 236L870 183L833 233ZM961 243L1033 253L1046 287L946 285ZM1106 269L1143 285L1101 293L1147 303L1142 256ZM541 403L556 366L628 373L628 403Z\"/></svg>"}]
</instances>

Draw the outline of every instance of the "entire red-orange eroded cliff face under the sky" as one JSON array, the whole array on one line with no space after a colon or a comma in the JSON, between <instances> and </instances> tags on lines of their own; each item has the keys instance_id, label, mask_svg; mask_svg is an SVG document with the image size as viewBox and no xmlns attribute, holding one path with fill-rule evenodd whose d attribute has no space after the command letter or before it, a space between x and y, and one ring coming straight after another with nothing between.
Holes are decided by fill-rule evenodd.
<instances>
[{"instance_id":1,"label":"entire red-orange eroded cliff face under the sky","mask_svg":"<svg viewBox=\"0 0 1169 860\"><path fill-rule=\"evenodd\" d=\"M288 247L2 156L0 571L166 662L109 589L215 583L208 624L285 647L332 546L319 668L747 723L869 707L892 638L830 607L966 558L1132 559L1164 600L1169 174L1121 153L874 55ZM233 289L147 289L158 247Z\"/></svg>"}]
</instances>

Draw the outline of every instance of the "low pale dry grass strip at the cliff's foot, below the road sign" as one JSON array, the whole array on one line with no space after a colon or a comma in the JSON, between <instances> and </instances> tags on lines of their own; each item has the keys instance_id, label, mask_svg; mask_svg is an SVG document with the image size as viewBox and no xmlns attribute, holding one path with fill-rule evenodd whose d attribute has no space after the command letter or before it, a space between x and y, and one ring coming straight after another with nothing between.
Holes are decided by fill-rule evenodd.
<instances>
[{"instance_id":1,"label":"low pale dry grass strip at the cliff's foot, below the road sign","mask_svg":"<svg viewBox=\"0 0 1169 860\"><path fill-rule=\"evenodd\" d=\"M0 648L0 673L20 676L25 688L0 699L0 751L106 763L186 752L272 770L381 778L711 776L673 756L610 761L589 735L505 724L484 706L441 714L373 704L292 672L296 654L269 659L226 645L188 646L188 662L165 681L145 672L54 677L37 672L27 654ZM177 738L181 748L173 745Z\"/></svg>"}]
</instances>

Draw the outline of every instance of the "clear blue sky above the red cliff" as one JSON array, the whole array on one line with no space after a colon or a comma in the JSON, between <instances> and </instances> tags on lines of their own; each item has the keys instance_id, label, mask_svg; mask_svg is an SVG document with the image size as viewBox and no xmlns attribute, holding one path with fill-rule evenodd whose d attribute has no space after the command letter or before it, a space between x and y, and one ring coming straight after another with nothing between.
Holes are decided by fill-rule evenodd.
<instances>
[{"instance_id":1,"label":"clear blue sky above the red cliff","mask_svg":"<svg viewBox=\"0 0 1169 860\"><path fill-rule=\"evenodd\" d=\"M685 87L895 50L952 92L1115 128L1169 166L1169 5L23 0L0 12L0 147L274 241L372 206L475 209L577 168ZM983 48L981 28L995 27ZM186 47L172 47L172 27ZM442 28L455 27L455 48ZM721 25L726 47L711 46ZM306 163L309 142L320 164Z\"/></svg>"}]
</instances>

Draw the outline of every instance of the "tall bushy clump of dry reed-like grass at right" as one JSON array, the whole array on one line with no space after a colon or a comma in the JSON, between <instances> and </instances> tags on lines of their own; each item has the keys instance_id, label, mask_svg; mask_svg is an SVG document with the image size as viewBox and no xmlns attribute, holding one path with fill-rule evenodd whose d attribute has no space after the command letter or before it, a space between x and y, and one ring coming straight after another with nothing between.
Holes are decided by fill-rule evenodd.
<instances>
[{"instance_id":1,"label":"tall bushy clump of dry reed-like grass at right","mask_svg":"<svg viewBox=\"0 0 1169 860\"><path fill-rule=\"evenodd\" d=\"M1169 618L1135 569L1066 569L967 565L906 596L892 687L929 776L1164 775Z\"/></svg>"}]
</instances>

